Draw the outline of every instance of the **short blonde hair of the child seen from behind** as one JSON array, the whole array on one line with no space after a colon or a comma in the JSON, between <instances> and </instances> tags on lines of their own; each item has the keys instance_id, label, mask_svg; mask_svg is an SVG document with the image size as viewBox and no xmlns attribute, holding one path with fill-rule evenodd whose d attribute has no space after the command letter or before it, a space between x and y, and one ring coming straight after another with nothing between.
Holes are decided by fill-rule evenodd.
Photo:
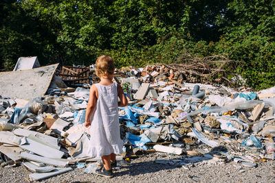
<instances>
[{"instance_id":1,"label":"short blonde hair of the child seen from behind","mask_svg":"<svg viewBox=\"0 0 275 183\"><path fill-rule=\"evenodd\" d=\"M96 60L96 75L98 77L111 75L114 70L115 63L110 56L100 56Z\"/></svg>"}]
</instances>

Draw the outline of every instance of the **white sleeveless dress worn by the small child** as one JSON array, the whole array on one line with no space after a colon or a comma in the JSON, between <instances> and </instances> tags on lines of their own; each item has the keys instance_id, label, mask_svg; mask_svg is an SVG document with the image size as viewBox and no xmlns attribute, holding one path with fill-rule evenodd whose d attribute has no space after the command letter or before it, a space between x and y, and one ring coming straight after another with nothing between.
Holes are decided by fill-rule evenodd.
<instances>
[{"instance_id":1,"label":"white sleeveless dress worn by the small child","mask_svg":"<svg viewBox=\"0 0 275 183\"><path fill-rule=\"evenodd\" d=\"M110 86L96 84L96 87L98 100L91 116L89 156L99 158L111 153L122 154L117 84L113 83Z\"/></svg>"}]
</instances>

